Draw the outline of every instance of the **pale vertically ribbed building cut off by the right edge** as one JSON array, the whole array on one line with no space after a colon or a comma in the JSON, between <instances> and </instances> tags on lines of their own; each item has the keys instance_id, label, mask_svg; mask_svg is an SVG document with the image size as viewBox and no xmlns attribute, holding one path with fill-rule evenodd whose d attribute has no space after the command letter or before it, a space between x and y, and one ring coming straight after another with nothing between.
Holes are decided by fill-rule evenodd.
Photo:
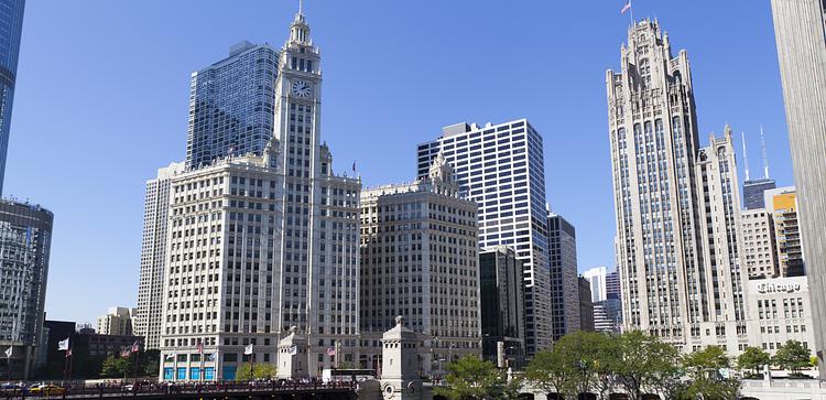
<instances>
[{"instance_id":1,"label":"pale vertically ribbed building cut off by the right edge","mask_svg":"<svg viewBox=\"0 0 826 400\"><path fill-rule=\"evenodd\" d=\"M820 378L826 378L826 3L772 0L794 182L812 293Z\"/></svg>"}]
</instances>

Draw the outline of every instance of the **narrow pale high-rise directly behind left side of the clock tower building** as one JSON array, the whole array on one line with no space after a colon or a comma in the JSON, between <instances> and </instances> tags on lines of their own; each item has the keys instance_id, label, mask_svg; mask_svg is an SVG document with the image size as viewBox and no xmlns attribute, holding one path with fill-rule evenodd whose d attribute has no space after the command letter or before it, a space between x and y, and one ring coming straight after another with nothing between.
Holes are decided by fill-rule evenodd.
<instances>
[{"instance_id":1,"label":"narrow pale high-rise directly behind left side of the clock tower building","mask_svg":"<svg viewBox=\"0 0 826 400\"><path fill-rule=\"evenodd\" d=\"M170 182L184 172L183 162L157 170L157 177L146 182L141 237L141 271L138 282L138 309L132 321L133 333L143 337L149 349L161 346L163 321L163 282L166 270L166 231L170 209Z\"/></svg>"}]
</instances>

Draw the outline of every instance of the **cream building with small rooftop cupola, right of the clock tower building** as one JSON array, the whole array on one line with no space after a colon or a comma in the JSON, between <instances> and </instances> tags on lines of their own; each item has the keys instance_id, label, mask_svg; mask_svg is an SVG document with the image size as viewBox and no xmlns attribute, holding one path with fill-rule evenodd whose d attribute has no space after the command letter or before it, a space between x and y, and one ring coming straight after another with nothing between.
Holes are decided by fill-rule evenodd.
<instances>
[{"instance_id":1,"label":"cream building with small rooftop cupola, right of the clock tower building","mask_svg":"<svg viewBox=\"0 0 826 400\"><path fill-rule=\"evenodd\" d=\"M401 315L445 360L481 354L477 205L453 175L437 156L426 179L361 192L361 332Z\"/></svg>"}]
</instances>

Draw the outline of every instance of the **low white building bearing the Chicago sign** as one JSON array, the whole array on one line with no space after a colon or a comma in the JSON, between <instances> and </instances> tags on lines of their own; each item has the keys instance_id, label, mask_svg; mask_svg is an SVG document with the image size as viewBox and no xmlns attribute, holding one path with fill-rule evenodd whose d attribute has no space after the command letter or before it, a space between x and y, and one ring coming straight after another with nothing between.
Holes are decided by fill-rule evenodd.
<instances>
[{"instance_id":1,"label":"low white building bearing the Chicago sign","mask_svg":"<svg viewBox=\"0 0 826 400\"><path fill-rule=\"evenodd\" d=\"M786 340L814 350L806 277L749 281L749 345L774 355Z\"/></svg>"}]
</instances>

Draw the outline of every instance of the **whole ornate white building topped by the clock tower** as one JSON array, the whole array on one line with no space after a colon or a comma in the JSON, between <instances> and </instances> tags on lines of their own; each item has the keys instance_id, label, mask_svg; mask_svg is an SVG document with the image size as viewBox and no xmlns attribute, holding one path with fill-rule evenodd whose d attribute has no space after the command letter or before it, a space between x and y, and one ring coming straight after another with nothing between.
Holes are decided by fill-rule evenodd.
<instances>
[{"instance_id":1,"label":"whole ornate white building topped by the clock tower","mask_svg":"<svg viewBox=\"0 0 826 400\"><path fill-rule=\"evenodd\" d=\"M311 376L334 357L355 358L361 182L336 175L320 141L320 54L309 37L297 13L262 154L217 160L170 183L163 379L233 379L246 346L248 358L273 363L292 326L309 338ZM204 363L199 344L219 356Z\"/></svg>"}]
</instances>

